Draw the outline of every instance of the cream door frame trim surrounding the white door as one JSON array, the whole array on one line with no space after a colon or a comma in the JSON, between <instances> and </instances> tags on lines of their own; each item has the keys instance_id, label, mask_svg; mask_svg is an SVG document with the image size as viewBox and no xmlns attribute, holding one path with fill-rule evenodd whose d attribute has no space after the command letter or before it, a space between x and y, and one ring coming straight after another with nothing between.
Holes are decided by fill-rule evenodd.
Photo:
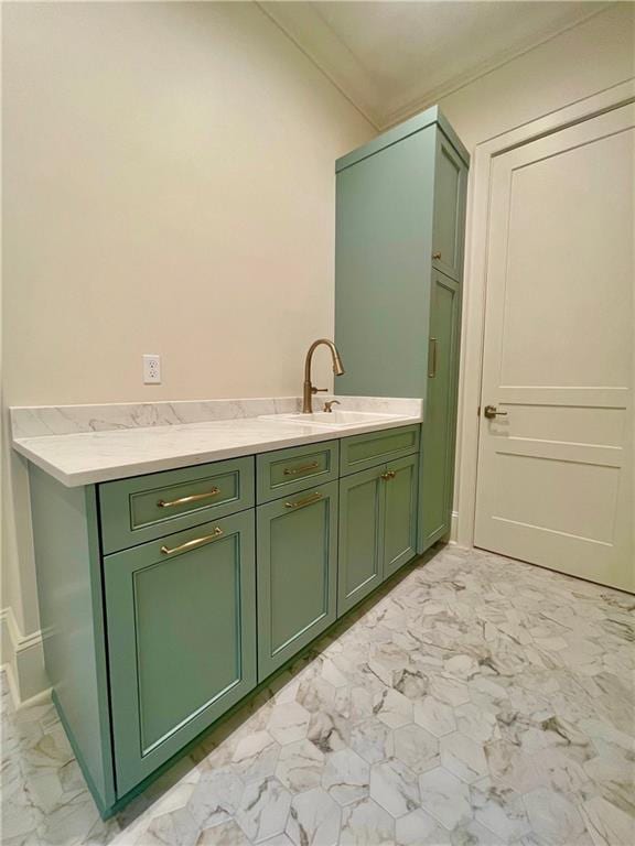
<instances>
[{"instance_id":1,"label":"cream door frame trim surrounding the white door","mask_svg":"<svg viewBox=\"0 0 635 846\"><path fill-rule=\"evenodd\" d=\"M472 156L467 185L467 226L463 319L461 326L461 370L459 387L459 431L456 437L455 511L451 539L459 546L474 546L476 522L476 478L483 348L485 330L487 241L489 228L491 175L495 156L543 135L581 123L606 111L635 101L635 78L606 88L591 97L558 109L542 118L477 144Z\"/></svg>"}]
</instances>

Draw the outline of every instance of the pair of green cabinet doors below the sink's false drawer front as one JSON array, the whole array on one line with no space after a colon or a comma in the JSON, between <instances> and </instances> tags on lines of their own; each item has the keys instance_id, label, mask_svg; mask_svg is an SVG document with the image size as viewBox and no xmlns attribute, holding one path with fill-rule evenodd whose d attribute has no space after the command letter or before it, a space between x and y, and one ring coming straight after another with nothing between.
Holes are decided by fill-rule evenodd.
<instances>
[{"instance_id":1,"label":"pair of green cabinet doors below the sink's false drawer front","mask_svg":"<svg viewBox=\"0 0 635 846\"><path fill-rule=\"evenodd\" d=\"M338 617L417 554L418 474L416 453L340 479Z\"/></svg>"}]
</instances>

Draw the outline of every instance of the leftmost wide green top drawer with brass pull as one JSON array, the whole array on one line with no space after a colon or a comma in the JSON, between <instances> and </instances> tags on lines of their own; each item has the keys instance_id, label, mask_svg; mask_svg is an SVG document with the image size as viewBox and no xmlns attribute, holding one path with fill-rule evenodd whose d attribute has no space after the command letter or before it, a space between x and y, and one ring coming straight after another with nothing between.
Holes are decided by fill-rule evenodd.
<instances>
[{"instance_id":1,"label":"leftmost wide green top drawer with brass pull","mask_svg":"<svg viewBox=\"0 0 635 846\"><path fill-rule=\"evenodd\" d=\"M104 551L134 546L254 505L254 458L99 486Z\"/></svg>"}]
</instances>

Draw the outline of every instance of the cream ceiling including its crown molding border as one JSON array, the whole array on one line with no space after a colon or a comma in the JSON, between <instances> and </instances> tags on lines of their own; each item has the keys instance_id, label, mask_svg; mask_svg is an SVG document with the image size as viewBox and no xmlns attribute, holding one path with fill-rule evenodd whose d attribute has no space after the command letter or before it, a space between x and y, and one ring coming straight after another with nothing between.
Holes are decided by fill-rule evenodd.
<instances>
[{"instance_id":1,"label":"cream ceiling including its crown molding border","mask_svg":"<svg viewBox=\"0 0 635 846\"><path fill-rule=\"evenodd\" d=\"M385 129L611 6L604 2L260 2Z\"/></svg>"}]
</instances>

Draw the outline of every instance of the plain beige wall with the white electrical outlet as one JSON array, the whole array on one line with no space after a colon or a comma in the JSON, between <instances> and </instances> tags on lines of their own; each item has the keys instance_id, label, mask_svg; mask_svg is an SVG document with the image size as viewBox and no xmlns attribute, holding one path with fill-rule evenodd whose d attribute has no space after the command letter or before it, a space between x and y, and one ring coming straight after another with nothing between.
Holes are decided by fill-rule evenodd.
<instances>
[{"instance_id":1,"label":"plain beige wall with the white electrical outlet","mask_svg":"<svg viewBox=\"0 0 635 846\"><path fill-rule=\"evenodd\" d=\"M333 334L334 161L370 124L250 3L4 3L3 35L6 403L299 393ZM3 603L28 633L8 453Z\"/></svg>"}]
</instances>

